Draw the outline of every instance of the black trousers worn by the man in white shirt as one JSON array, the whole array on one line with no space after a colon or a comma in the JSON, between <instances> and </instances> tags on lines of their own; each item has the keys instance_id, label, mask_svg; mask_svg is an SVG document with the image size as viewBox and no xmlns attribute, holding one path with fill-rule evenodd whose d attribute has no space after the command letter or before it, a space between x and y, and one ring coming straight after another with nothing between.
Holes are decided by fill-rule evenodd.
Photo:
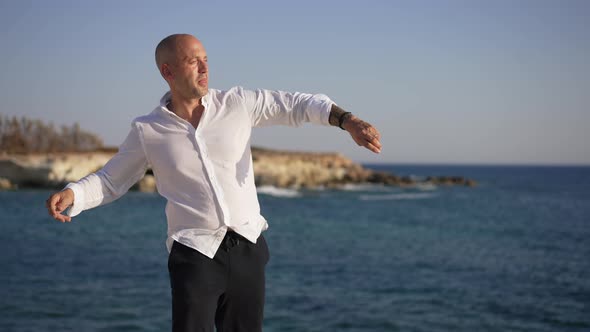
<instances>
[{"instance_id":1,"label":"black trousers worn by the man in white shirt","mask_svg":"<svg viewBox=\"0 0 590 332\"><path fill-rule=\"evenodd\" d=\"M229 231L213 259L179 242L168 257L173 332L262 331L268 247Z\"/></svg>"}]
</instances>

